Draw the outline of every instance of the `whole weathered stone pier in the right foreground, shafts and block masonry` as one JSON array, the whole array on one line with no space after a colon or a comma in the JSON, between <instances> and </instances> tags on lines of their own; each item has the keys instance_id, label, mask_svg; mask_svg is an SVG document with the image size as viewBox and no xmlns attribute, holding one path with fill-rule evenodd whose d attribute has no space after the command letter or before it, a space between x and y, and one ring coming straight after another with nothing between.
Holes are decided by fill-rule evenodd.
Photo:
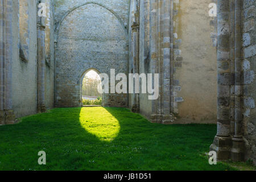
<instances>
[{"instance_id":1,"label":"whole weathered stone pier in the right foreground, shafts and block masonry","mask_svg":"<svg viewBox=\"0 0 256 182\"><path fill-rule=\"evenodd\" d=\"M251 61L255 62L255 38L251 42L246 32L242 34L248 27L246 20L255 17L254 4L218 1L218 122L210 150L217 151L219 160L251 159L255 163L255 119L248 119L255 107L254 98L249 97L255 94L255 73L246 60L254 56ZM246 51L249 45L250 51Z\"/></svg>"}]
</instances>

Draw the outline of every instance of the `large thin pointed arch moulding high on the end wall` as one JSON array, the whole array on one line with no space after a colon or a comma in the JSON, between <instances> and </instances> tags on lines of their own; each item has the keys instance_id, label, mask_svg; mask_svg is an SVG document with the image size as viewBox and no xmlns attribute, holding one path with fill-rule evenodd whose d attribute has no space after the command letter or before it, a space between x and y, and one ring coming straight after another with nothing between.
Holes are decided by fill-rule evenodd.
<instances>
[{"instance_id":1,"label":"large thin pointed arch moulding high on the end wall","mask_svg":"<svg viewBox=\"0 0 256 182\"><path fill-rule=\"evenodd\" d=\"M93 1L91 1L91 2L86 2L86 3L84 3L84 4L80 5L80 6L76 6L76 7L74 7L73 9L67 11L67 12L64 14L63 18L61 18L60 22L58 22L58 24L57 24L57 26L56 26L56 30L55 30L56 35L57 35L57 38L56 38L56 39L59 38L59 30L60 30L60 28L61 28L61 25L62 25L64 19L67 18L67 16L68 16L70 13L72 13L72 11L74 11L74 10L76 10L76 9L79 9L79 8L82 7L82 6L89 5L89 4L98 5L98 6L104 7L106 10L110 11L110 12L118 19L118 21L119 21L119 23L121 24L123 30L125 31L126 39L127 39L127 41L128 41L128 30L126 29L125 24L123 23L122 19L117 15L117 13L115 13L113 10L109 9L109 8L106 7L105 5L102 5L101 3L93 2Z\"/></svg>"}]
</instances>

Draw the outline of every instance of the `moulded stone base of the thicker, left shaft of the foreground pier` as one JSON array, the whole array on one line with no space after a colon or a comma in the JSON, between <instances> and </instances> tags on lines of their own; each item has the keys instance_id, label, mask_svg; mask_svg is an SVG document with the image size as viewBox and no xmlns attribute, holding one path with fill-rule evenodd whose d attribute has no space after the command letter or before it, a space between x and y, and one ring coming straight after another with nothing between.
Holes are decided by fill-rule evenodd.
<instances>
[{"instance_id":1,"label":"moulded stone base of the thicker, left shaft of the foreground pier","mask_svg":"<svg viewBox=\"0 0 256 182\"><path fill-rule=\"evenodd\" d=\"M216 135L213 143L210 145L210 151L216 151L217 160L228 160L230 159L231 146L232 140L230 137Z\"/></svg>"}]
</instances>

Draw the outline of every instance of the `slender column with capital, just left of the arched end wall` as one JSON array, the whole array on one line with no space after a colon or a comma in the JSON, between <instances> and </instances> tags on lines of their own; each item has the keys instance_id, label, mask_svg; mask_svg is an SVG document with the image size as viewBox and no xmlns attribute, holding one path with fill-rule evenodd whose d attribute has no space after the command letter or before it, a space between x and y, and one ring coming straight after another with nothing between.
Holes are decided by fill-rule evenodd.
<instances>
[{"instance_id":1,"label":"slender column with capital, just left of the arched end wall","mask_svg":"<svg viewBox=\"0 0 256 182\"><path fill-rule=\"evenodd\" d=\"M38 33L38 113L46 111L44 100L45 91L45 69L46 69L46 50L45 50L45 33L46 27L44 26L44 17L38 16L37 18L37 33Z\"/></svg>"}]
</instances>

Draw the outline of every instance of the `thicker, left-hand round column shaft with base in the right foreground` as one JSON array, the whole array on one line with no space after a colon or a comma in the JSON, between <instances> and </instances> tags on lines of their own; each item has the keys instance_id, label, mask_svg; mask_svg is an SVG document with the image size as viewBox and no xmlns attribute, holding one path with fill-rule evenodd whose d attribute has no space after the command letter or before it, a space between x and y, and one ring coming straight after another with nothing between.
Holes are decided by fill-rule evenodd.
<instances>
[{"instance_id":1,"label":"thicker, left-hand round column shaft with base in the right foreground","mask_svg":"<svg viewBox=\"0 0 256 182\"><path fill-rule=\"evenodd\" d=\"M217 9L217 134L210 146L210 151L217 152L218 160L225 160L230 158L230 89L234 80L230 72L230 1L218 0Z\"/></svg>"}]
</instances>

